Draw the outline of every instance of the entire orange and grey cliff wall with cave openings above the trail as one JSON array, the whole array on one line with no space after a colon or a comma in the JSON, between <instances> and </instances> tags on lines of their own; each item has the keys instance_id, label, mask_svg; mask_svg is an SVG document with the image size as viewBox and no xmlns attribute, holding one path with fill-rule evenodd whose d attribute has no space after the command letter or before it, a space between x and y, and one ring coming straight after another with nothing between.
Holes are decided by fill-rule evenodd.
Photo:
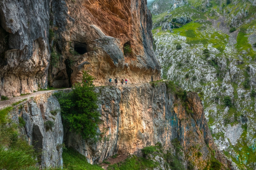
<instances>
[{"instance_id":1,"label":"entire orange and grey cliff wall with cave openings above the trail","mask_svg":"<svg viewBox=\"0 0 256 170\"><path fill-rule=\"evenodd\" d=\"M97 85L159 78L146 0L16 0L0 8L0 95L69 87L84 70Z\"/></svg>"}]
</instances>

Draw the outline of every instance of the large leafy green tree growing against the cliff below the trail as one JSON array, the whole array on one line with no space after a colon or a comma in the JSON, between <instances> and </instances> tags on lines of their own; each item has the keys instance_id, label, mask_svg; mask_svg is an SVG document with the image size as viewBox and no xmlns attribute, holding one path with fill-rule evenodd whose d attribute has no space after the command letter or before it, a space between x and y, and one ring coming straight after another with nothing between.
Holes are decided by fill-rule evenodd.
<instances>
[{"instance_id":1,"label":"large leafy green tree growing against the cliff below the trail","mask_svg":"<svg viewBox=\"0 0 256 170\"><path fill-rule=\"evenodd\" d=\"M63 124L70 131L80 134L83 139L96 141L97 135L100 135L97 130L101 120L97 111L97 93L93 91L93 80L93 76L83 72L82 83L76 83L69 93L58 92L55 96L61 106Z\"/></svg>"}]
</instances>

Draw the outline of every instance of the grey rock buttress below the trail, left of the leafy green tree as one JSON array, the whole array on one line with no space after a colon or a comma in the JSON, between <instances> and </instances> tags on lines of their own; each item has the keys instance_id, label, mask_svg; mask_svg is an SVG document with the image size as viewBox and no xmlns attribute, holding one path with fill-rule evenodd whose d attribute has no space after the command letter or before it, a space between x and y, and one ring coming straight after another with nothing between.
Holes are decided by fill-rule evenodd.
<instances>
[{"instance_id":1,"label":"grey rock buttress below the trail, left of the leafy green tree","mask_svg":"<svg viewBox=\"0 0 256 170\"><path fill-rule=\"evenodd\" d=\"M29 144L38 150L39 164L42 167L63 165L63 125L60 106L51 93L22 102L10 115L16 122L18 117L22 117L26 122L21 132L27 137Z\"/></svg>"}]
</instances>

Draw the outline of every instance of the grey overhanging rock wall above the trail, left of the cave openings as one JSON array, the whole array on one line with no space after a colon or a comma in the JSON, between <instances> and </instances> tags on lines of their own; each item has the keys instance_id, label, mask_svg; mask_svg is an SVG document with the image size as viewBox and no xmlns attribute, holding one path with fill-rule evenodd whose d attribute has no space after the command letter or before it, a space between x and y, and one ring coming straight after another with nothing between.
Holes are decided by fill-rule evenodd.
<instances>
[{"instance_id":1,"label":"grey overhanging rock wall above the trail, left of the cave openings","mask_svg":"<svg viewBox=\"0 0 256 170\"><path fill-rule=\"evenodd\" d=\"M0 95L46 88L49 1L1 1L0 14Z\"/></svg>"}]
</instances>

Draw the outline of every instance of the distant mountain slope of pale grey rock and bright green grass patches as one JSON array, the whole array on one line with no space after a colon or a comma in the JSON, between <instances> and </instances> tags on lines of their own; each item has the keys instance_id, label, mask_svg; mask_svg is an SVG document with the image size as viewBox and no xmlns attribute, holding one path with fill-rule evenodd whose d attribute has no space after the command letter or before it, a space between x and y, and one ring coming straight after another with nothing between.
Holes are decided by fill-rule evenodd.
<instances>
[{"instance_id":1,"label":"distant mountain slope of pale grey rock and bright green grass patches","mask_svg":"<svg viewBox=\"0 0 256 170\"><path fill-rule=\"evenodd\" d=\"M197 91L215 143L238 169L255 169L256 7L210 1L202 10L188 3L153 15L162 76Z\"/></svg>"}]
</instances>

